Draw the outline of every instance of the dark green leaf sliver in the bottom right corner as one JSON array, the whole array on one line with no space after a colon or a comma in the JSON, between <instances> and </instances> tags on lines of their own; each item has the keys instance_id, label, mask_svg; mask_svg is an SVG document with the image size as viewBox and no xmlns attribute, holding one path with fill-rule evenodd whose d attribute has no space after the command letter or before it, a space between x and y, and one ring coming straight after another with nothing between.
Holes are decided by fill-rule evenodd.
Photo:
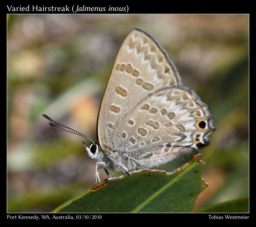
<instances>
[{"instance_id":1,"label":"dark green leaf sliver in the bottom right corner","mask_svg":"<svg viewBox=\"0 0 256 227\"><path fill-rule=\"evenodd\" d=\"M223 203L214 204L195 213L246 213L249 212L249 196L242 196L238 199L226 201Z\"/></svg>"}]
</instances>

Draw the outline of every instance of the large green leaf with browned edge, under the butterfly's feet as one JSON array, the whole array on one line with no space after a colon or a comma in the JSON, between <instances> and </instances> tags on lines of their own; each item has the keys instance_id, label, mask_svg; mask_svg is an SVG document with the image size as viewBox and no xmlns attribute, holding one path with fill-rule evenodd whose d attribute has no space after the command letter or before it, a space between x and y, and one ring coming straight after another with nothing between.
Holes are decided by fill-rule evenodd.
<instances>
[{"instance_id":1,"label":"large green leaf with browned edge, under the butterfly's feet","mask_svg":"<svg viewBox=\"0 0 256 227\"><path fill-rule=\"evenodd\" d=\"M171 173L144 169L107 178L52 212L190 212L207 187L201 157L194 155Z\"/></svg>"}]
</instances>

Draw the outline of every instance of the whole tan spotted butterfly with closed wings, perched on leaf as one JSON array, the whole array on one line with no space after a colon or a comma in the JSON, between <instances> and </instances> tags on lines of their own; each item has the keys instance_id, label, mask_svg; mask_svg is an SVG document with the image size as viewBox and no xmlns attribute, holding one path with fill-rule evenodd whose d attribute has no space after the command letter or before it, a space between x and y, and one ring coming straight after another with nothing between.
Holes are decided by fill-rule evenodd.
<instances>
[{"instance_id":1,"label":"whole tan spotted butterfly with closed wings, perched on leaf","mask_svg":"<svg viewBox=\"0 0 256 227\"><path fill-rule=\"evenodd\" d=\"M72 133L86 135L70 129ZM59 128L52 123L51 126ZM165 164L210 144L213 116L193 89L182 84L176 66L148 32L133 28L123 40L100 105L97 140L88 155L98 165L123 171Z\"/></svg>"}]
</instances>

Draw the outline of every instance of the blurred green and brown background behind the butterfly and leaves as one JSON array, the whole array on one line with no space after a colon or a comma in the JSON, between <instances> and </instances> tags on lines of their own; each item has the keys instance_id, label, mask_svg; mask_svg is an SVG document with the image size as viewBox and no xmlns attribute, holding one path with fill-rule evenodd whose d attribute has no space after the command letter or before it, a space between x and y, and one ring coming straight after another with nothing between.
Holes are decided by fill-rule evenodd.
<instances>
[{"instance_id":1,"label":"blurred green and brown background behind the butterfly and leaves","mask_svg":"<svg viewBox=\"0 0 256 227\"><path fill-rule=\"evenodd\" d=\"M83 139L42 114L96 139L107 80L133 27L160 42L215 117L202 151L209 186L194 210L249 194L249 15L8 15L8 212L49 212L94 184Z\"/></svg>"}]
</instances>

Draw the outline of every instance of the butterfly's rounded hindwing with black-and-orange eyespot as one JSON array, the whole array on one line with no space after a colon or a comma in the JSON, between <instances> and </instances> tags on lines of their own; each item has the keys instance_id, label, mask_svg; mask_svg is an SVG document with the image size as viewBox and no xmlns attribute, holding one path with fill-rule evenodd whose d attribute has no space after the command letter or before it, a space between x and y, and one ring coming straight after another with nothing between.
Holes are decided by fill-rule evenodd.
<instances>
[{"instance_id":1,"label":"butterfly's rounded hindwing with black-and-orange eyespot","mask_svg":"<svg viewBox=\"0 0 256 227\"><path fill-rule=\"evenodd\" d=\"M150 93L120 119L111 143L114 150L137 160L156 159L206 145L213 130L210 119L191 90L166 87Z\"/></svg>"}]
</instances>

